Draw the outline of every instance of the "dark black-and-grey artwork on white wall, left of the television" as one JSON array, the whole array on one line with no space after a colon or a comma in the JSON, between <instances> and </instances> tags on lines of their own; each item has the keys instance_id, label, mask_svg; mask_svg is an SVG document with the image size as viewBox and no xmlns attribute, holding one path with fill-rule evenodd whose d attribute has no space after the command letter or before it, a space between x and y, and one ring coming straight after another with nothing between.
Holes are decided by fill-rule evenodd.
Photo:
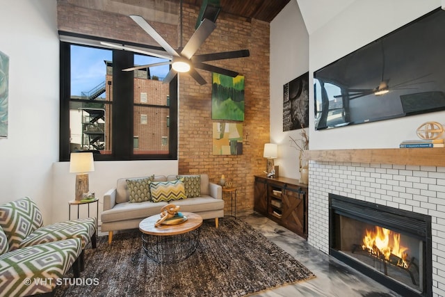
<instances>
[{"instance_id":1,"label":"dark black-and-grey artwork on white wall, left of the television","mask_svg":"<svg viewBox=\"0 0 445 297\"><path fill-rule=\"evenodd\" d=\"M309 127L309 72L283 87L283 131Z\"/></svg>"}]
</instances>

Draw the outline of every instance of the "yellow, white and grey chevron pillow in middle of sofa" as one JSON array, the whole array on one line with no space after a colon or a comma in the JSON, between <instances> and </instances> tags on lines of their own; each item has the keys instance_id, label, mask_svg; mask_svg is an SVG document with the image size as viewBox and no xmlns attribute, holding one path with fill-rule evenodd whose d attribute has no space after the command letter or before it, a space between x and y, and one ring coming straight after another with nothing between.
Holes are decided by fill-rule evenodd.
<instances>
[{"instance_id":1,"label":"yellow, white and grey chevron pillow in middle of sofa","mask_svg":"<svg viewBox=\"0 0 445 297\"><path fill-rule=\"evenodd\" d=\"M171 182L150 182L150 191L152 192L152 201L170 201L186 199L186 190L184 188L184 179L177 179Z\"/></svg>"}]
</instances>

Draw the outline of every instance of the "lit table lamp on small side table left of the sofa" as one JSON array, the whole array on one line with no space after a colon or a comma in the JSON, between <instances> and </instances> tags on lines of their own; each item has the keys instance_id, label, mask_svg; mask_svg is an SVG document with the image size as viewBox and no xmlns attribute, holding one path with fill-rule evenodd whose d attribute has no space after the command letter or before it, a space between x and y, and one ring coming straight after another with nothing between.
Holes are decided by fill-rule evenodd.
<instances>
[{"instance_id":1,"label":"lit table lamp on small side table left of the sofa","mask_svg":"<svg viewBox=\"0 0 445 297\"><path fill-rule=\"evenodd\" d=\"M95 170L92 152L72 152L70 172L76 173L76 200L82 200L82 194L90 191L88 173Z\"/></svg>"}]
</instances>

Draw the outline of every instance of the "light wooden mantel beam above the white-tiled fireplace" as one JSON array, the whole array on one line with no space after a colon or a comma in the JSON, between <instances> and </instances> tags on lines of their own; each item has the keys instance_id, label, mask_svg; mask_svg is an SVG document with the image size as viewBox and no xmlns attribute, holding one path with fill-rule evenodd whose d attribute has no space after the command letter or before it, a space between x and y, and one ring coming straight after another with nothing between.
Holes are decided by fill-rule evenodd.
<instances>
[{"instance_id":1,"label":"light wooden mantel beam above the white-tiled fireplace","mask_svg":"<svg viewBox=\"0 0 445 297\"><path fill-rule=\"evenodd\" d=\"M445 167L445 148L443 147L307 150L305 156L314 161Z\"/></svg>"}]
</instances>

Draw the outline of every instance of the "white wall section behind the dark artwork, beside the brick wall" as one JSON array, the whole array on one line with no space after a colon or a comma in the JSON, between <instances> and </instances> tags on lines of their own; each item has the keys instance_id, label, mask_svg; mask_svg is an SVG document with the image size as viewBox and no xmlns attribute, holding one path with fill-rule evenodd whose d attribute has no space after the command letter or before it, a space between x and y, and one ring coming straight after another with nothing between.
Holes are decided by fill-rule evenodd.
<instances>
[{"instance_id":1,"label":"white wall section behind the dark artwork, beside the brick wall","mask_svg":"<svg viewBox=\"0 0 445 297\"><path fill-rule=\"evenodd\" d=\"M284 177L300 178L298 151L289 138L300 138L300 130L283 132L283 86L308 69L309 35L297 2L289 1L270 22L270 142L278 144L275 165Z\"/></svg>"}]
</instances>

